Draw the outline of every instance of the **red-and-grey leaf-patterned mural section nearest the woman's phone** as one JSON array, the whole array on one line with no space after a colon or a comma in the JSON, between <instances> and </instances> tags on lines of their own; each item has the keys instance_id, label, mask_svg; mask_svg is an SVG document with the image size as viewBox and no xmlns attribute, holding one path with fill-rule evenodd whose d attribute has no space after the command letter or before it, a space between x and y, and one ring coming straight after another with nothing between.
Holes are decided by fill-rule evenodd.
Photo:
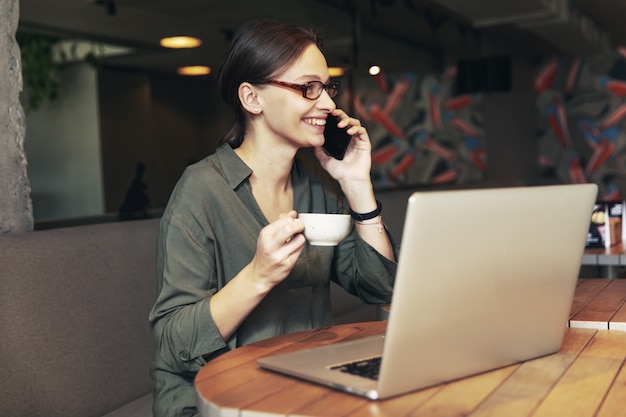
<instances>
[{"instance_id":1,"label":"red-and-grey leaf-patterned mural section nearest the woman's phone","mask_svg":"<svg viewBox=\"0 0 626 417\"><path fill-rule=\"evenodd\" d=\"M376 187L483 178L482 96L454 95L455 75L450 67L438 77L381 73L359 80L353 107L372 141Z\"/></svg>"}]
</instances>

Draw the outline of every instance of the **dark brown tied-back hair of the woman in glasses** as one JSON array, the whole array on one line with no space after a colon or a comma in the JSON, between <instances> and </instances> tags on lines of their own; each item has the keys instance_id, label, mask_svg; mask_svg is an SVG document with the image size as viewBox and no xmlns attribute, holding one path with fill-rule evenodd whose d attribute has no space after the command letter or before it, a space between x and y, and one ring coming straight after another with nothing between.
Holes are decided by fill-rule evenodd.
<instances>
[{"instance_id":1,"label":"dark brown tied-back hair of the woman in glasses","mask_svg":"<svg viewBox=\"0 0 626 417\"><path fill-rule=\"evenodd\" d=\"M241 83L267 83L295 62L311 44L322 51L321 37L313 29L265 19L241 27L217 74L220 95L235 112L235 124L222 138L222 143L228 142L236 148L246 133L246 113L238 93Z\"/></svg>"}]
</instances>

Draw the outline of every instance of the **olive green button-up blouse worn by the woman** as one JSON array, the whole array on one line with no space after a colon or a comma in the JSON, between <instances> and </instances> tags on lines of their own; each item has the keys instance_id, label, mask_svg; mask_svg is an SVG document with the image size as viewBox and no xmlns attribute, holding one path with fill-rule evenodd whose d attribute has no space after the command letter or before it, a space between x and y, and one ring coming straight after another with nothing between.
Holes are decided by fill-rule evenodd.
<instances>
[{"instance_id":1,"label":"olive green button-up blouse worn by the woman","mask_svg":"<svg viewBox=\"0 0 626 417\"><path fill-rule=\"evenodd\" d=\"M292 168L294 209L338 213L338 188L299 158ZM250 188L252 171L228 145L186 169L161 220L157 300L150 312L156 349L154 415L197 414L193 379L207 360L237 346L332 325L330 280L368 303L391 299L396 263L360 239L354 228L336 247L307 243L290 275L229 339L220 336L211 296L253 258L268 224Z\"/></svg>"}]
</instances>

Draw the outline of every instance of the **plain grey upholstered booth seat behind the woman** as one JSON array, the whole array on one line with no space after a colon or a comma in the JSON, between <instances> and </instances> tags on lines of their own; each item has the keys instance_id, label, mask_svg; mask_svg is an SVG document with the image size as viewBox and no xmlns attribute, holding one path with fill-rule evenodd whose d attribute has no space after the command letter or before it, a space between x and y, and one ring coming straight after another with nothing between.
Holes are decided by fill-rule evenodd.
<instances>
[{"instance_id":1,"label":"plain grey upholstered booth seat behind the woman","mask_svg":"<svg viewBox=\"0 0 626 417\"><path fill-rule=\"evenodd\" d=\"M159 219L0 236L2 415L152 415ZM333 285L337 323L376 319Z\"/></svg>"}]
</instances>

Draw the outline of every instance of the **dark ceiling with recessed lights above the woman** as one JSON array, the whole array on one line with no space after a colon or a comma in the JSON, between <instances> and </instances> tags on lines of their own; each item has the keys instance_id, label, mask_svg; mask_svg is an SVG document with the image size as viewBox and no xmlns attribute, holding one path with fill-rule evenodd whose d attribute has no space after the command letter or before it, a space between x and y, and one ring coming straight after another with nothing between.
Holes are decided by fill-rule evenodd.
<instances>
[{"instance_id":1,"label":"dark ceiling with recessed lights above the woman","mask_svg":"<svg viewBox=\"0 0 626 417\"><path fill-rule=\"evenodd\" d=\"M485 36L531 54L602 51L584 36L579 40L577 27L572 35L576 25L561 25L563 19L538 31L519 22L484 26L474 16L502 5L552 3L569 4L597 24L605 44L626 45L626 2L617 0L20 0L20 29L130 47L132 53L106 63L164 72L181 65L216 67L234 31L259 17L314 25L324 34L330 65L384 62L419 69L445 54L484 52ZM161 37L180 34L197 36L203 44L176 51L159 46Z\"/></svg>"}]
</instances>

